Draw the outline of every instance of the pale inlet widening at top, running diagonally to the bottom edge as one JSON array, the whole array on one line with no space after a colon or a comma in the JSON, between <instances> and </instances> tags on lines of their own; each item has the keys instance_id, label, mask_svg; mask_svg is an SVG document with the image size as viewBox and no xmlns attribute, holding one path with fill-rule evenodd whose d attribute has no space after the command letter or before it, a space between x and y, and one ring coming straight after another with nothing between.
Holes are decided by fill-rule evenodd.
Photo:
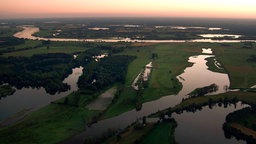
<instances>
[{"instance_id":1,"label":"pale inlet widening at top, running diagonally to the bottom edge","mask_svg":"<svg viewBox=\"0 0 256 144\"><path fill-rule=\"evenodd\" d=\"M188 61L193 63L193 65L186 68L184 70L184 73L177 76L177 78L183 85L182 90L177 95L165 96L158 100L144 103L140 111L136 111L135 109L133 109L131 111L122 113L116 117L101 120L91 125L90 127L87 127L83 133L74 136L73 138L65 141L64 143L82 144L84 139L101 136L109 129L123 129L131 123L135 122L138 118L148 116L149 114L155 113L159 110L163 110L179 104L182 101L182 98L187 97L187 94L189 92L199 87L204 87L215 83L219 86L219 89L214 94L226 92L224 86L230 85L228 75L212 72L207 69L207 61L205 59L213 56L214 55L197 55L189 57ZM182 79L180 77L182 77ZM217 126L219 123L214 123L214 121L219 120L223 120L222 114L220 114L220 116L214 117L211 124ZM218 132L222 132L222 130ZM184 133L186 133L186 131L184 131ZM199 133L203 133L203 131ZM212 135L212 137L221 137L220 139L223 139L222 137L224 137L224 135Z\"/></svg>"}]
</instances>

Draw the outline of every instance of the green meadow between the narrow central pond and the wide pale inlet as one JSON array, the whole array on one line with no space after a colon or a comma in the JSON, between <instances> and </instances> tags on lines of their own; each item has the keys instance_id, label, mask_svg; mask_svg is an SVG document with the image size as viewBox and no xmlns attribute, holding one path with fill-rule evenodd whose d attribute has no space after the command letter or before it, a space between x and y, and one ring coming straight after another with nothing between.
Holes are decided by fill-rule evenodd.
<instances>
[{"instance_id":1,"label":"green meadow between the narrow central pond and the wide pale inlet","mask_svg":"<svg viewBox=\"0 0 256 144\"><path fill-rule=\"evenodd\" d=\"M158 57L153 61L149 86L143 92L144 102L178 93L182 85L176 76L191 65L187 62L188 57L200 54L201 49L189 43L173 43L158 44L153 52L157 53Z\"/></svg>"}]
</instances>

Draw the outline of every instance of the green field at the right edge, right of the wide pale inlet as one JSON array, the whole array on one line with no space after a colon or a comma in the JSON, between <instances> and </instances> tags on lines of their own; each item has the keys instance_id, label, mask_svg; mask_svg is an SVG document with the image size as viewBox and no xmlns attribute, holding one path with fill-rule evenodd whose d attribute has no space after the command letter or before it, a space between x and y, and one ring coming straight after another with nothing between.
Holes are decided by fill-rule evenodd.
<instances>
[{"instance_id":1,"label":"green field at the right edge, right of the wide pale inlet","mask_svg":"<svg viewBox=\"0 0 256 144\"><path fill-rule=\"evenodd\" d=\"M247 59L256 54L254 48L242 48L243 44L220 44L213 51L229 74L231 88L249 88L256 85L256 63Z\"/></svg>"}]
</instances>

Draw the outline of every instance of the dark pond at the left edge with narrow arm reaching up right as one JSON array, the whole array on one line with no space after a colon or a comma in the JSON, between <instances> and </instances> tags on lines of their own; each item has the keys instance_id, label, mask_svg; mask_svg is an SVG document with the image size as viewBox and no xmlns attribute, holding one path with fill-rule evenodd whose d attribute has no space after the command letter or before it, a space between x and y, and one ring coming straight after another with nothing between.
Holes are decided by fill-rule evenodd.
<instances>
[{"instance_id":1,"label":"dark pond at the left edge with narrow arm reaching up right","mask_svg":"<svg viewBox=\"0 0 256 144\"><path fill-rule=\"evenodd\" d=\"M42 106L49 104L59 98L67 96L72 91L76 91L78 78L82 75L83 67L72 69L72 74L64 79L63 83L70 85L70 90L57 93L55 95L47 94L44 88L22 88L16 90L13 95L0 100L0 121L20 111L31 112Z\"/></svg>"}]
</instances>

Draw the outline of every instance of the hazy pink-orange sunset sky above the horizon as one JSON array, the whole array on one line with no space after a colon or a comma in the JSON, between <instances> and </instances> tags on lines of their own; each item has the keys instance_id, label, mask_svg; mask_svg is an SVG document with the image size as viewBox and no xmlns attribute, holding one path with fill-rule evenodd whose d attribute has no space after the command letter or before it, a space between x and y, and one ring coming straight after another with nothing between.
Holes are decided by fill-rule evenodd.
<instances>
[{"instance_id":1,"label":"hazy pink-orange sunset sky above the horizon","mask_svg":"<svg viewBox=\"0 0 256 144\"><path fill-rule=\"evenodd\" d=\"M0 0L0 18L71 16L256 19L256 0Z\"/></svg>"}]
</instances>

